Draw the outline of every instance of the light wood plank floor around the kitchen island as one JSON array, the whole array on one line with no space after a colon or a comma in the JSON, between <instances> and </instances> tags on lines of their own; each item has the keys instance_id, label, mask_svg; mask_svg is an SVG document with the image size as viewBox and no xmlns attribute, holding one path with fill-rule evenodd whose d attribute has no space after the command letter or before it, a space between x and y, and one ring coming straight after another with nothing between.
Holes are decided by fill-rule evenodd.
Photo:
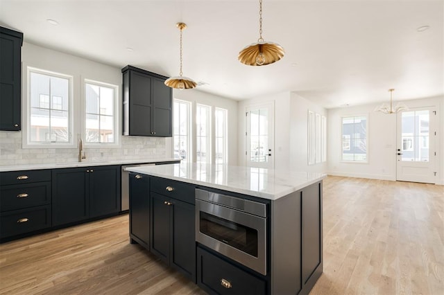
<instances>
[{"instance_id":1,"label":"light wood plank floor around the kitchen island","mask_svg":"<svg viewBox=\"0 0 444 295\"><path fill-rule=\"evenodd\" d=\"M311 294L444 294L444 186L327 177ZM205 294L128 242L128 215L0 245L0 294Z\"/></svg>"}]
</instances>

